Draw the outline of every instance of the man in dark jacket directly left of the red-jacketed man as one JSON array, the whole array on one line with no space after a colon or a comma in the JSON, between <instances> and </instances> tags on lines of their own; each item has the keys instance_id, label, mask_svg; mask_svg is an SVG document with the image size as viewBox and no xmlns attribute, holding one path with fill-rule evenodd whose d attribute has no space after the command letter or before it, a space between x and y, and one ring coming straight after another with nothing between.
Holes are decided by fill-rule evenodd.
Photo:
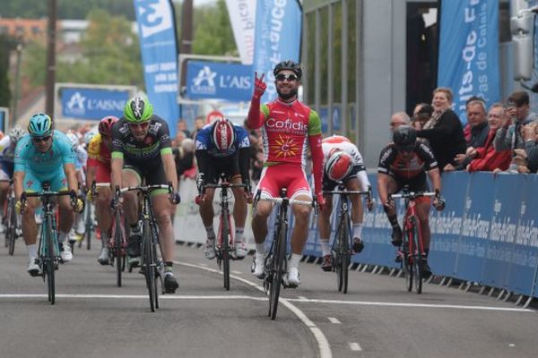
<instances>
[{"instance_id":1,"label":"man in dark jacket directly left of the red-jacketed man","mask_svg":"<svg viewBox=\"0 0 538 358\"><path fill-rule=\"evenodd\" d=\"M488 125L486 105L482 100L474 99L467 102L467 121L471 128L471 136L469 141L467 141L467 149L464 154L458 154L456 155L456 158L454 158L457 163L456 166L452 166L451 164L445 166L445 171L447 172L452 170L464 170L469 163L471 163L471 160L473 160L471 154L475 154L476 149L484 147L486 143L486 139L490 132L490 126Z\"/></svg>"}]
</instances>

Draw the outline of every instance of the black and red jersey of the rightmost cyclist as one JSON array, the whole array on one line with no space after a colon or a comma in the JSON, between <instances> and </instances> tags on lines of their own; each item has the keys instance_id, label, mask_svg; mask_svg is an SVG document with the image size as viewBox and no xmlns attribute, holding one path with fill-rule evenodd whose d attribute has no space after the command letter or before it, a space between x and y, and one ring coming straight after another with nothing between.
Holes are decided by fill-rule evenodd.
<instances>
[{"instance_id":1,"label":"black and red jersey of the rightmost cyclist","mask_svg":"<svg viewBox=\"0 0 538 358\"><path fill-rule=\"evenodd\" d=\"M404 159L395 144L391 143L381 150L377 173L411 179L437 167L437 160L427 144L417 143L412 151L412 158Z\"/></svg>"}]
</instances>

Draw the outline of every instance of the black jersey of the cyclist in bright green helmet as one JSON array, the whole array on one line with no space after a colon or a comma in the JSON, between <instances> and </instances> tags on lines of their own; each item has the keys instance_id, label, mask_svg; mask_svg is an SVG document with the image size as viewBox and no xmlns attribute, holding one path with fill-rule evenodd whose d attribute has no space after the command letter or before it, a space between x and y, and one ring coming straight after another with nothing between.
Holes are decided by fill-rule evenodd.
<instances>
[{"instance_id":1,"label":"black jersey of the cyclist in bright green helmet","mask_svg":"<svg viewBox=\"0 0 538 358\"><path fill-rule=\"evenodd\" d=\"M134 139L128 124L122 117L112 127L111 158L124 158L126 165L131 166L161 166L161 154L172 154L168 124L159 116L152 115L143 141Z\"/></svg>"}]
</instances>

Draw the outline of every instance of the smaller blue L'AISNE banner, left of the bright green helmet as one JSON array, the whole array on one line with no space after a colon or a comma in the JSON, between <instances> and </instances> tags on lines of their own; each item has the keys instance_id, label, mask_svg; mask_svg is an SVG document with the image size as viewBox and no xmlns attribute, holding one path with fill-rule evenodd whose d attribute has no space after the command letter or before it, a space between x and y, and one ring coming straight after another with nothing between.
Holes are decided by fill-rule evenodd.
<instances>
[{"instance_id":1,"label":"smaller blue L'AISNE banner, left of the bright green helmet","mask_svg":"<svg viewBox=\"0 0 538 358\"><path fill-rule=\"evenodd\" d=\"M129 90L62 88L62 117L96 121L107 115L121 117L129 95Z\"/></svg>"}]
</instances>

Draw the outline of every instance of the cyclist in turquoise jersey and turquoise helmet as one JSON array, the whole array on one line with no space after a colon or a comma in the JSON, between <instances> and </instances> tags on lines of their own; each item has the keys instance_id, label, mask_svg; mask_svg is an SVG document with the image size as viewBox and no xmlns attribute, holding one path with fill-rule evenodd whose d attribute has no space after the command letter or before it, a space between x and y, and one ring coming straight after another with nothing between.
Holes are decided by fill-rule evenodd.
<instances>
[{"instance_id":1,"label":"cyclist in turquoise jersey and turquoise helmet","mask_svg":"<svg viewBox=\"0 0 538 358\"><path fill-rule=\"evenodd\" d=\"M48 115L37 114L30 118L28 132L15 149L15 166L13 185L17 203L15 208L22 213L22 236L28 247L28 269L31 276L39 275L36 263L38 249L36 239L38 226L34 212L39 205L38 198L28 198L25 205L21 201L22 192L40 192L43 183L50 183L50 190L69 189L76 192L78 183L74 169L74 151L71 142L63 132L53 129L52 119ZM58 198L60 209L59 237L60 257L64 261L73 259L67 235L74 221L74 211L82 211L82 200L76 200L75 208L71 206L68 196Z\"/></svg>"}]
</instances>

